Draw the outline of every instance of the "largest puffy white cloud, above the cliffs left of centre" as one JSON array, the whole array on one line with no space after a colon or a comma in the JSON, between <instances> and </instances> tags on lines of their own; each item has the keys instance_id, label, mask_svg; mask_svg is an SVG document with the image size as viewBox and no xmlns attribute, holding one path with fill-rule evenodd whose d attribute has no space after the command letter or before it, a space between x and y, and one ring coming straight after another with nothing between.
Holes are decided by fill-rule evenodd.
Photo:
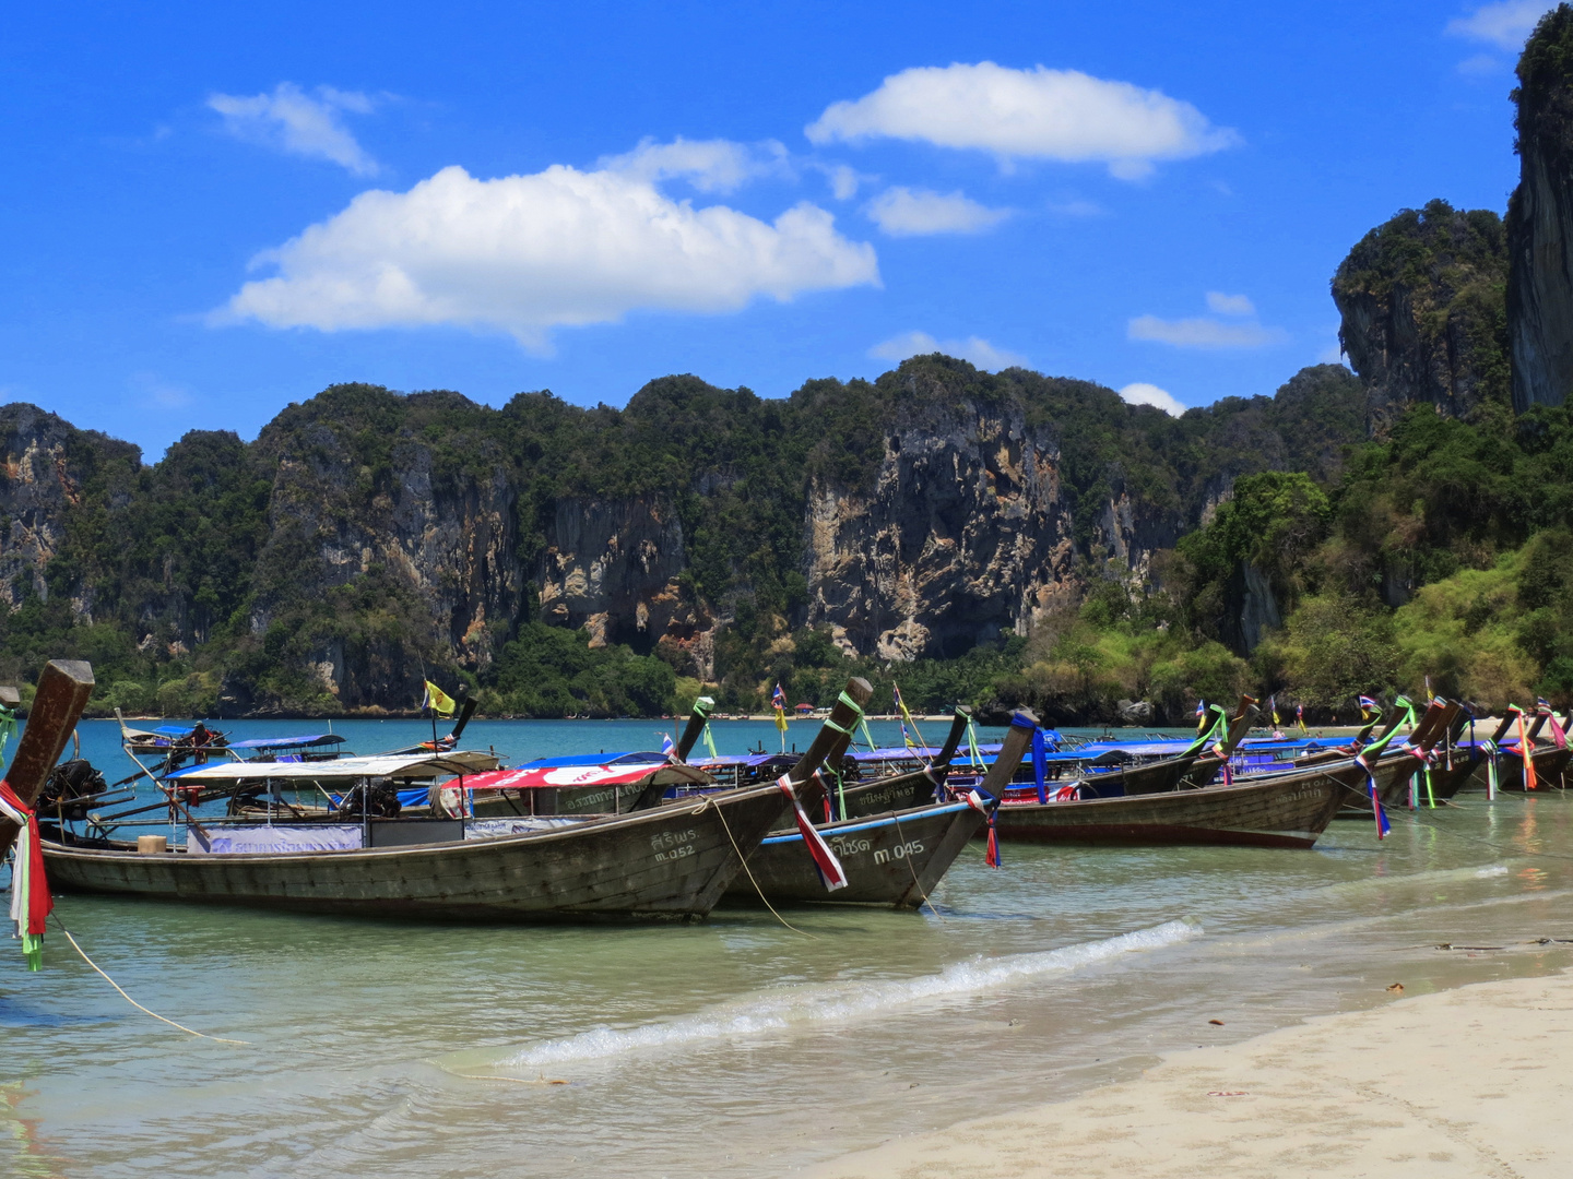
<instances>
[{"instance_id":1,"label":"largest puffy white cloud, above the cliffs left of centre","mask_svg":"<svg viewBox=\"0 0 1573 1179\"><path fill-rule=\"evenodd\" d=\"M713 173L709 173L713 174ZM801 203L772 223L673 201L626 171L554 165L480 181L450 167L371 190L253 259L216 324L322 332L455 324L547 351L554 327L635 310L736 311L758 296L879 285L875 250Z\"/></svg>"}]
</instances>

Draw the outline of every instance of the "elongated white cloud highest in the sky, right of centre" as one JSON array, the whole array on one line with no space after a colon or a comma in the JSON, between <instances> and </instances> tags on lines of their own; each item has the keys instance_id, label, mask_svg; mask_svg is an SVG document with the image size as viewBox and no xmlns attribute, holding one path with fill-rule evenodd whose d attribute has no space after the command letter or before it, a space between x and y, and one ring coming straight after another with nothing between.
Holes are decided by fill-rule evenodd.
<instances>
[{"instance_id":1,"label":"elongated white cloud highest in the sky, right of centre","mask_svg":"<svg viewBox=\"0 0 1573 1179\"><path fill-rule=\"evenodd\" d=\"M1100 160L1122 179L1155 160L1238 141L1189 102L1074 69L919 66L851 102L834 102L805 127L813 143L900 138L989 151L1000 159Z\"/></svg>"}]
</instances>

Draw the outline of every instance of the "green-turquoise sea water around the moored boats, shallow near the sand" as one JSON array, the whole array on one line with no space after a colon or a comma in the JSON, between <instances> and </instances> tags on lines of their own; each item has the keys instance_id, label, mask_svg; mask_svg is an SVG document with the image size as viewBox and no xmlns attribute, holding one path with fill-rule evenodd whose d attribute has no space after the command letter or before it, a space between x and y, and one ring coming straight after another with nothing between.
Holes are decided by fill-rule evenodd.
<instances>
[{"instance_id":1,"label":"green-turquoise sea water around the moored boats, shallow near the sand","mask_svg":"<svg viewBox=\"0 0 1573 1179\"><path fill-rule=\"evenodd\" d=\"M431 736L337 728L355 753ZM768 723L714 728L722 753L777 747ZM464 744L518 762L661 731L481 722ZM131 770L112 723L82 733L105 777ZM510 927L60 898L132 998L247 1042L137 1011L55 932L36 975L0 942L0 1174L777 1176L1381 1005L1394 982L1573 964L1560 792L1402 811L1383 843L1339 821L1310 852L1004 855L996 871L969 847L931 910L783 910L794 929L763 907Z\"/></svg>"}]
</instances>

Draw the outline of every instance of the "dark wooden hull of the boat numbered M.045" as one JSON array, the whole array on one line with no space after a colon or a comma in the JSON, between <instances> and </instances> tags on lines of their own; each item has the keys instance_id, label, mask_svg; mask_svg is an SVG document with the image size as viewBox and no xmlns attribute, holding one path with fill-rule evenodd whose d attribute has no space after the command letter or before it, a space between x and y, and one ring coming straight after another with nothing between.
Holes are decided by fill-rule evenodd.
<instances>
[{"instance_id":1,"label":"dark wooden hull of the boat numbered M.045","mask_svg":"<svg viewBox=\"0 0 1573 1179\"><path fill-rule=\"evenodd\" d=\"M831 902L917 909L977 833L983 813L964 802L938 803L818 828L846 869L846 888L827 893L798 832L764 838L749 871L733 877L728 901ZM749 879L752 874L752 880Z\"/></svg>"}]
</instances>

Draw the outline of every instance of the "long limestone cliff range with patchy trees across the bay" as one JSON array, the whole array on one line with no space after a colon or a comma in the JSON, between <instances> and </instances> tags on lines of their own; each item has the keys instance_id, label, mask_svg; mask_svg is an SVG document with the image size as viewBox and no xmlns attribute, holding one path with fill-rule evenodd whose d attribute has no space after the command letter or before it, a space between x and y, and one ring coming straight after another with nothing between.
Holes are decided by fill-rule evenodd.
<instances>
[{"instance_id":1,"label":"long limestone cliff range with patchy trees across the bay","mask_svg":"<svg viewBox=\"0 0 1573 1179\"><path fill-rule=\"evenodd\" d=\"M28 623L44 641L102 623L135 676L222 684L230 714L409 707L437 671L484 687L527 621L706 681L757 676L805 624L958 656L1093 578L1147 580L1243 473L1335 472L1353 380L1307 369L1183 420L947 357L774 402L670 377L624 410L340 385L154 467L13 406L0 596L66 601Z\"/></svg>"}]
</instances>

